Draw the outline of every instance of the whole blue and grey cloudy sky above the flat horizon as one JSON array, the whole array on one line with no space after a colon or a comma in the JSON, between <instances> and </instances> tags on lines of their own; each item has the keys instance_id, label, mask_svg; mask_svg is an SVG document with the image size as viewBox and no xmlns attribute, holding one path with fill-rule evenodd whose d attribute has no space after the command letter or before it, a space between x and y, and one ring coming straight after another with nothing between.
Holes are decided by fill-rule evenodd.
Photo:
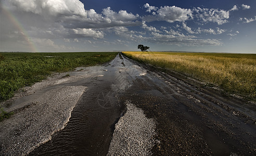
<instances>
[{"instance_id":1,"label":"whole blue and grey cloudy sky above the flat horizon","mask_svg":"<svg viewBox=\"0 0 256 156\"><path fill-rule=\"evenodd\" d=\"M255 0L1 0L0 51L256 54Z\"/></svg>"}]
</instances>

